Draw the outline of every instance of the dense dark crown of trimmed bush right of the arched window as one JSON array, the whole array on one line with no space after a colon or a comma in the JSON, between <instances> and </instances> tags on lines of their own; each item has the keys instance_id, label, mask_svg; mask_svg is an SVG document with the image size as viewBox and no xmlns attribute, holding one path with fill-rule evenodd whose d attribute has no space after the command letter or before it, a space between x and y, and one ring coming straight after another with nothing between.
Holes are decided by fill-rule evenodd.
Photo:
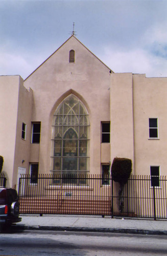
<instances>
[{"instance_id":1,"label":"dense dark crown of trimmed bush right of the arched window","mask_svg":"<svg viewBox=\"0 0 167 256\"><path fill-rule=\"evenodd\" d=\"M114 158L111 166L112 179L126 184L132 172L132 161L128 158Z\"/></svg>"}]
</instances>

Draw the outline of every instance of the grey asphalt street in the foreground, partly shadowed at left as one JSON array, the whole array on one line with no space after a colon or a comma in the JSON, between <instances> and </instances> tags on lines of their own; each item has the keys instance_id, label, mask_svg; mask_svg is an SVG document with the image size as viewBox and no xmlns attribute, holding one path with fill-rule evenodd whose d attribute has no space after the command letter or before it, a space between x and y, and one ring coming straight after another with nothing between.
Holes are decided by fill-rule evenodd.
<instances>
[{"instance_id":1,"label":"grey asphalt street in the foreground, partly shadowed at left","mask_svg":"<svg viewBox=\"0 0 167 256\"><path fill-rule=\"evenodd\" d=\"M103 232L6 230L0 255L166 255L167 236Z\"/></svg>"}]
</instances>

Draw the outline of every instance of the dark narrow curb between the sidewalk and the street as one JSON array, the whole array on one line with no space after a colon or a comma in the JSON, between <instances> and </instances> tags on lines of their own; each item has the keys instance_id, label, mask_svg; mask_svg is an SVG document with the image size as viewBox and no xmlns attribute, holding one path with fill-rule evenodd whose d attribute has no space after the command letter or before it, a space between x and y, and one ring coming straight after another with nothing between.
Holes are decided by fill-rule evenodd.
<instances>
[{"instance_id":1,"label":"dark narrow curb between the sidewalk and the street","mask_svg":"<svg viewBox=\"0 0 167 256\"><path fill-rule=\"evenodd\" d=\"M133 229L133 228L94 228L94 227L63 227L63 226L39 226L39 225L16 225L14 230L49 230L49 231L78 231L78 232L111 232L129 234L154 234L167 235L167 230Z\"/></svg>"}]
</instances>

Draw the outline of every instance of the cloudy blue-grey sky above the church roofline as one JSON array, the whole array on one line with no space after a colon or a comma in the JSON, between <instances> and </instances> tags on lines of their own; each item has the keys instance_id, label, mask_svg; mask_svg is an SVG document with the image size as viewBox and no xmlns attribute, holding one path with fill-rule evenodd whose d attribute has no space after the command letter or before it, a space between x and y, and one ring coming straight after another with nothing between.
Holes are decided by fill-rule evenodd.
<instances>
[{"instance_id":1,"label":"cloudy blue-grey sky above the church roofline","mask_svg":"<svg viewBox=\"0 0 167 256\"><path fill-rule=\"evenodd\" d=\"M113 72L167 77L167 0L0 0L0 75L26 79L73 23Z\"/></svg>"}]
</instances>

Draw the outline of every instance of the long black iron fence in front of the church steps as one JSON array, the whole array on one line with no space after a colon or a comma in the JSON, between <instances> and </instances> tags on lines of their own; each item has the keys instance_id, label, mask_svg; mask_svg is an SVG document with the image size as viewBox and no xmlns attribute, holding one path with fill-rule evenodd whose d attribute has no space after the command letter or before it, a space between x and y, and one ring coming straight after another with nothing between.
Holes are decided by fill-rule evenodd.
<instances>
[{"instance_id":1,"label":"long black iron fence in front of the church steps","mask_svg":"<svg viewBox=\"0 0 167 256\"><path fill-rule=\"evenodd\" d=\"M20 213L166 219L166 182L166 177L154 183L150 176L131 176L121 193L119 183L101 175L21 175Z\"/></svg>"}]
</instances>

